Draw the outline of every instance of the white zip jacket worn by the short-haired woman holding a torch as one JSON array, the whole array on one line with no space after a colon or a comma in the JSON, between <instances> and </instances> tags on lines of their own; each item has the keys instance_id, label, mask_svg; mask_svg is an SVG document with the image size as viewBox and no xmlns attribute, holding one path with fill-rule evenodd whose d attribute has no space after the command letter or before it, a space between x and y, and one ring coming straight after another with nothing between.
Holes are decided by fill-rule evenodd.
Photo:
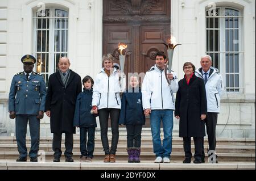
<instances>
[{"instance_id":1,"label":"white zip jacket worn by the short-haired woman holding a torch","mask_svg":"<svg viewBox=\"0 0 256 181\"><path fill-rule=\"evenodd\" d=\"M121 109L119 93L122 92L123 89L125 89L125 87L121 87L120 85L117 70L114 69L113 73L108 77L104 68L102 68L94 81L92 106L97 106L98 110L103 108Z\"/></svg>"}]
</instances>

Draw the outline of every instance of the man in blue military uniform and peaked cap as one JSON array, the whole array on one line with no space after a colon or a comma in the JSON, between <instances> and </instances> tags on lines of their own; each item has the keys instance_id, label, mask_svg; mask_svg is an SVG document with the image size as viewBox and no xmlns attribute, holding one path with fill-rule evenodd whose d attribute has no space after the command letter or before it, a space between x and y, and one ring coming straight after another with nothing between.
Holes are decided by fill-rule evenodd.
<instances>
[{"instance_id":1,"label":"man in blue military uniform and peaked cap","mask_svg":"<svg viewBox=\"0 0 256 181\"><path fill-rule=\"evenodd\" d=\"M42 75L33 71L35 57L27 54L21 58L24 71L14 75L9 93L10 119L15 120L16 141L19 158L17 162L27 161L26 133L30 126L31 162L38 161L40 119L44 116L46 102L46 83Z\"/></svg>"}]
</instances>

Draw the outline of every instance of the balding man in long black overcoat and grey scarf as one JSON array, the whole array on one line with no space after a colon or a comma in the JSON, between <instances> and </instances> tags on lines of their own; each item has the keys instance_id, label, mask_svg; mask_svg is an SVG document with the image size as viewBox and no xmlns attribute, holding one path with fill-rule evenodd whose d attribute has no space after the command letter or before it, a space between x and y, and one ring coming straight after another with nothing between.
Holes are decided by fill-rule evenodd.
<instances>
[{"instance_id":1,"label":"balding man in long black overcoat and grey scarf","mask_svg":"<svg viewBox=\"0 0 256 181\"><path fill-rule=\"evenodd\" d=\"M81 77L69 69L67 57L61 57L58 66L59 71L49 76L45 109L46 115L51 117L53 162L60 161L62 133L65 133L65 161L73 162L73 133L76 133L73 117L76 98L82 90Z\"/></svg>"}]
</instances>

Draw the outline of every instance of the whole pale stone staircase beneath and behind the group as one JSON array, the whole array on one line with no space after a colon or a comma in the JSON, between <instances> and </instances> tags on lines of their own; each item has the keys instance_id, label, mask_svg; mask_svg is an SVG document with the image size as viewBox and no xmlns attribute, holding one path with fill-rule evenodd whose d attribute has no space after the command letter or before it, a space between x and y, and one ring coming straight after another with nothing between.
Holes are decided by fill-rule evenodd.
<instances>
[{"instance_id":1,"label":"whole pale stone staircase beneath and behind the group","mask_svg":"<svg viewBox=\"0 0 256 181\"><path fill-rule=\"evenodd\" d=\"M64 134L63 134L64 137ZM161 134L163 138L163 133ZM111 139L111 134L109 134L109 140ZM111 141L109 141L111 143ZM64 153L64 140L63 140L62 150ZM193 151L193 141L192 141L192 151ZM205 153L208 148L208 141L205 139ZM27 148L30 148L30 138L27 137ZM100 132L96 131L95 136L95 149L93 162L89 163L90 167L86 163L80 163L80 141L79 135L74 136L73 145L73 159L75 163L65 163L64 155L61 157L60 163L52 163L53 151L52 151L52 137L40 137L40 151L39 159L45 161L42 163L17 163L15 159L18 158L18 151L16 146L15 137L0 137L0 169L26 167L27 169L68 169L72 167L73 169L134 169L139 167L139 169L255 169L255 139L254 138L217 138L217 148L216 153L218 154L218 164L200 164L200 166L195 166L195 164L182 164L184 159L183 151L183 140L177 136L174 132L172 140L172 154L171 154L171 164L163 163L153 163L155 155L152 148L152 137L150 130L143 130L142 132L142 152L141 152L141 163L127 163L127 152L126 152L126 132L119 132L119 142L117 149L117 162L116 163L102 163L104 158L104 151L101 145ZM206 155L205 161L208 157ZM26 164L32 164L26 165ZM96 164L97 163L97 164ZM34 164L34 165L33 165ZM40 164L40 165L38 165ZM84 165L85 164L85 165ZM106 165L107 164L107 165ZM110 165L108 165L110 164ZM120 165L121 164L121 165ZM146 164L146 165L145 165ZM194 165L194 166L192 166ZM214 166L215 165L215 166Z\"/></svg>"}]
</instances>

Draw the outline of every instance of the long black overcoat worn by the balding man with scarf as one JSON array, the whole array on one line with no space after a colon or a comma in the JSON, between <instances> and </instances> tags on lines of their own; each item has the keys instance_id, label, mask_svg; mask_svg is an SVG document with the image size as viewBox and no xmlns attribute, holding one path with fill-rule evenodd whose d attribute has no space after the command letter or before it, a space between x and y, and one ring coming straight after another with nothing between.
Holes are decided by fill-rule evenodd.
<instances>
[{"instance_id":1,"label":"long black overcoat worn by the balding man with scarf","mask_svg":"<svg viewBox=\"0 0 256 181\"><path fill-rule=\"evenodd\" d=\"M76 98L82 91L81 77L70 70L66 88L57 71L49 76L46 111L51 111L51 133L76 133L73 127Z\"/></svg>"}]
</instances>

